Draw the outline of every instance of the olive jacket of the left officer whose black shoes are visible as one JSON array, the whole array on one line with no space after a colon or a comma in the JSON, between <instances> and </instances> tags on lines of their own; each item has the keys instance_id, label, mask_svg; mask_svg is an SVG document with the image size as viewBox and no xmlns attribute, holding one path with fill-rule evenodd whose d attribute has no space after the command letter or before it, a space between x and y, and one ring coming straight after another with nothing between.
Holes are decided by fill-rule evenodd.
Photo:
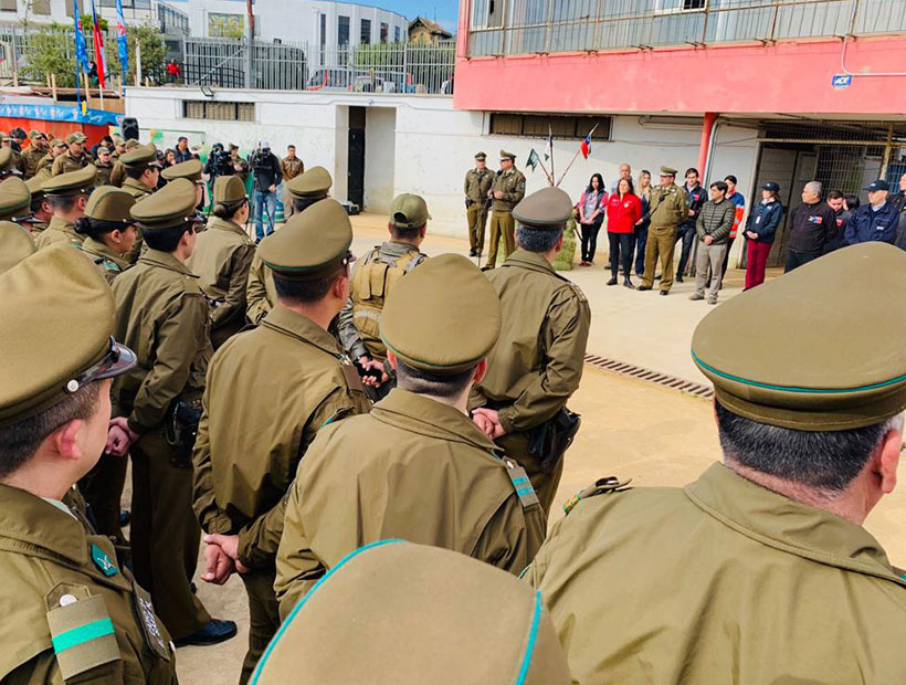
<instances>
[{"instance_id":1,"label":"olive jacket of the left officer whose black shoes are visible","mask_svg":"<svg viewBox=\"0 0 906 685\"><path fill-rule=\"evenodd\" d=\"M136 433L159 429L170 403L199 398L211 357L208 302L198 276L168 252L147 250L113 283L114 337L138 363L114 381L114 403Z\"/></svg>"}]
</instances>

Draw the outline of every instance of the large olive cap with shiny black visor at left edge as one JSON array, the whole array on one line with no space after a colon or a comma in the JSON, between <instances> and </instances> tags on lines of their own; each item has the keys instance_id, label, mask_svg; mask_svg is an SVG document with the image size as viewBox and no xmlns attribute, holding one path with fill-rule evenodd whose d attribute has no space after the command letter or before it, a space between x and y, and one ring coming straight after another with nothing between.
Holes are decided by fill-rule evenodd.
<instances>
[{"instance_id":1,"label":"large olive cap with shiny black visor at left edge","mask_svg":"<svg viewBox=\"0 0 906 685\"><path fill-rule=\"evenodd\" d=\"M0 425L135 366L131 350L112 346L110 287L77 250L41 250L0 275Z\"/></svg>"}]
</instances>

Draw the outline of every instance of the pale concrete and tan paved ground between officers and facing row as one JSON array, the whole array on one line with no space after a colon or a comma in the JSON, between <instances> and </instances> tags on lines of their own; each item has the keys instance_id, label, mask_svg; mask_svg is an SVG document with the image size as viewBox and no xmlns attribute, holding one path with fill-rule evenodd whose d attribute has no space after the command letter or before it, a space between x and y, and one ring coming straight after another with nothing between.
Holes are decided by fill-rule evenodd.
<instances>
[{"instance_id":1,"label":"pale concrete and tan paved ground between officers and facing row","mask_svg":"<svg viewBox=\"0 0 906 685\"><path fill-rule=\"evenodd\" d=\"M382 218L356 218L356 254L382 239ZM425 252L467 252L464 241L430 238ZM603 263L603 259L599 259ZM740 291L741 272L731 274L721 298ZM607 287L600 266L569 274L592 304L589 351L702 380L688 360L688 344L698 319L709 309L686 296L692 285L681 284L668 297ZM582 430L567 455L557 495L562 502L596 478L605 475L633 478L633 485L683 485L719 459L710 403L652 383L608 373L586 366L582 383L570 402L582 414ZM906 478L906 465L900 467ZM555 510L551 519L561 513ZM894 563L906 563L906 485L885 498L867 521ZM656 550L652 550L656 556ZM215 647L179 650L183 684L234 683L245 651L247 610L242 583L233 578L224 587L199 581L199 597L219 618L240 623L240 635Z\"/></svg>"}]
</instances>

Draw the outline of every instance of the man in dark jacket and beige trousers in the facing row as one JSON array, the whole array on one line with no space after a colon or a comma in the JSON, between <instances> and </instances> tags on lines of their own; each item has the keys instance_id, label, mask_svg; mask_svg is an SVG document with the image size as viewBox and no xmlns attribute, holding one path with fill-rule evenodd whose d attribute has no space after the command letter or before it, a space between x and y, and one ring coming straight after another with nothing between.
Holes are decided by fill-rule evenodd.
<instances>
[{"instance_id":1,"label":"man in dark jacket and beige trousers in the facing row","mask_svg":"<svg viewBox=\"0 0 906 685\"><path fill-rule=\"evenodd\" d=\"M708 267L712 278L708 288L708 304L717 304L717 293L724 280L724 257L729 249L730 230L736 218L736 203L727 200L728 186L724 181L710 185L710 200L705 202L695 222L698 234L698 250L695 255L695 292L689 299L705 298Z\"/></svg>"}]
</instances>

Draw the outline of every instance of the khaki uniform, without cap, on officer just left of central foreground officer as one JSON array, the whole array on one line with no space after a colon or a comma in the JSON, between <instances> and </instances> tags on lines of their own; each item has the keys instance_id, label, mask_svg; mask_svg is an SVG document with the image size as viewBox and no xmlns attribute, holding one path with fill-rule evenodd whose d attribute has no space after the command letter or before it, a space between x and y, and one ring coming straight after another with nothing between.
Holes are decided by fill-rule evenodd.
<instances>
[{"instance_id":1,"label":"khaki uniform, without cap, on officer just left of central foreground officer","mask_svg":"<svg viewBox=\"0 0 906 685\"><path fill-rule=\"evenodd\" d=\"M319 326L274 307L211 360L193 453L194 510L208 533L239 534L251 630L242 679L280 626L274 559L285 495L323 425L367 412L358 373Z\"/></svg>"}]
</instances>

